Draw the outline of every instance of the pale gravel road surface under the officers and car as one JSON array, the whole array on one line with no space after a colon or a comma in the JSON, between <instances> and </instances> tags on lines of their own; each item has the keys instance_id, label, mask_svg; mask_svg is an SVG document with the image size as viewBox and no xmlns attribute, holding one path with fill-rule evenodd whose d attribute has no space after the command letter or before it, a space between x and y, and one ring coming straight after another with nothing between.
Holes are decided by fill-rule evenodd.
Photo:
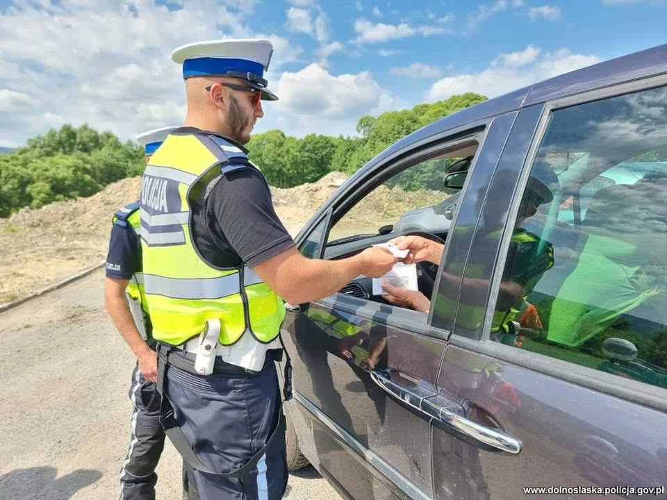
<instances>
[{"instance_id":1,"label":"pale gravel road surface under the officers and car","mask_svg":"<svg viewBox=\"0 0 667 500\"><path fill-rule=\"evenodd\" d=\"M113 499L129 440L134 360L106 315L102 270L0 314L0 500ZM167 441L158 499L181 498ZM308 467L286 499L336 500Z\"/></svg>"}]
</instances>

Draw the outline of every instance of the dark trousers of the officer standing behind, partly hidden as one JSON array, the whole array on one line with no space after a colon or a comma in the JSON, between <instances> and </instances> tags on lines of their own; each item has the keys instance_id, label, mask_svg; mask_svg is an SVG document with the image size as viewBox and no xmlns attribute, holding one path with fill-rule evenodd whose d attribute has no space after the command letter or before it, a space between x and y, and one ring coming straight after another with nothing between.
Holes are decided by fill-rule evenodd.
<instances>
[{"instance_id":1,"label":"dark trousers of the officer standing behind, partly hidden","mask_svg":"<svg viewBox=\"0 0 667 500\"><path fill-rule=\"evenodd\" d=\"M165 431L160 424L160 394L156 385L144 378L139 363L132 372L129 395L134 410L130 446L120 470L120 498L154 500L155 469L165 447Z\"/></svg>"}]
</instances>

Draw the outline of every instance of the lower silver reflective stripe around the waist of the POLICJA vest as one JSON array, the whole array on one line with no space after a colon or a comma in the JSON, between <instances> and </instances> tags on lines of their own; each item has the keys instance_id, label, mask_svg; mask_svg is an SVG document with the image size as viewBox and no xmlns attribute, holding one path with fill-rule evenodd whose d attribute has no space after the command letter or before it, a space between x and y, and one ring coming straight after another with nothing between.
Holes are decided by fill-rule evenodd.
<instances>
[{"instance_id":1,"label":"lower silver reflective stripe around the waist of the POLICJA vest","mask_svg":"<svg viewBox=\"0 0 667 500\"><path fill-rule=\"evenodd\" d=\"M238 273L220 278L165 278L155 274L144 275L147 294L164 295L172 299L220 299L238 294Z\"/></svg>"}]
</instances>

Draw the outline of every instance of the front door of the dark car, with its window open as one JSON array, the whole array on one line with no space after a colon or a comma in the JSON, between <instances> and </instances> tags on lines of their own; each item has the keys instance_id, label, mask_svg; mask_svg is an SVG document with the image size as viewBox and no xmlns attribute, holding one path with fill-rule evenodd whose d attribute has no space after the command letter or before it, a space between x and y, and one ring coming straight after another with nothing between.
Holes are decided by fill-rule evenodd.
<instances>
[{"instance_id":1,"label":"front door of the dark car, with its window open","mask_svg":"<svg viewBox=\"0 0 667 500\"><path fill-rule=\"evenodd\" d=\"M488 170L485 165L495 163L514 117L516 113L487 119L452 131L451 138L399 151L400 160L388 160L359 178L355 188L313 222L302 238L302 251L338 258L396 236L374 232L400 219L404 208L415 207L398 207L388 219L369 219L373 204L399 194L397 203L404 197L434 205L437 200L422 199L425 193L404 190L404 181L431 176L440 183L444 156L449 161L474 154L472 168ZM434 164L438 161L439 167ZM383 217L387 211L381 210ZM349 238L346 220L373 233L361 240ZM327 235L328 244L322 244ZM431 416L422 411L420 399L436 394L445 338L440 332L429 334L427 314L377 297L369 300L369 284L370 279L361 277L332 297L287 305L282 334L294 367L290 410L297 413L299 446L346 496L429 499L434 494Z\"/></svg>"}]
</instances>

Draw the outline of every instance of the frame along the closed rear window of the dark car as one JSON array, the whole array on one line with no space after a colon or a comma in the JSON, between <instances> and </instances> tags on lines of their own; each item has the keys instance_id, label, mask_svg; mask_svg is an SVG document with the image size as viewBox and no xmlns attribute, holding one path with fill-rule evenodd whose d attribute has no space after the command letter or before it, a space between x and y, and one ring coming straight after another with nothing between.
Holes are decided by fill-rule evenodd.
<instances>
[{"instance_id":1,"label":"frame along the closed rear window of the dark car","mask_svg":"<svg viewBox=\"0 0 667 500\"><path fill-rule=\"evenodd\" d=\"M475 340L454 333L453 335L450 335L450 343L457 347L491 356L513 365L554 376L555 378L559 378L569 383L588 387L592 390L603 392L634 403L639 403L650 408L667 411L667 390L657 387L657 385L650 385L629 378L623 378L618 375L608 374L597 369L584 367L557 358L551 358L550 356L534 353L532 351L523 351L516 347L493 342L490 339L493 314L498 294L500 293L502 273L507 263L514 221L518 215L520 201L525 192L530 171L537 156L537 151L543 141L545 131L551 122L554 112L585 103L601 101L610 97L618 97L625 94L652 90L666 85L667 74L662 74L637 81L620 83L609 88L582 92L581 94L554 99L545 103L540 122L538 123L536 132L532 138L525 163L522 166L516 191L513 194L510 210L505 221L502 240L500 242L500 250L495 263L495 269L493 270L493 281L491 283L486 306L482 337L479 340ZM522 110L523 109L525 108L522 108Z\"/></svg>"}]
</instances>

